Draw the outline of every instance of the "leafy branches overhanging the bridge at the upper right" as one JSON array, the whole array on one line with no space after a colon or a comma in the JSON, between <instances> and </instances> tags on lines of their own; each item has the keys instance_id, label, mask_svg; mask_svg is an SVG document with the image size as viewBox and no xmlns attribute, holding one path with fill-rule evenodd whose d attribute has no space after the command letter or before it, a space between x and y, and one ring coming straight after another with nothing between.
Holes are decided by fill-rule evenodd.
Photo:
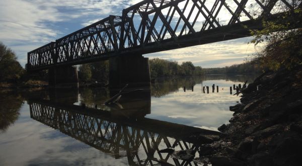
<instances>
[{"instance_id":1,"label":"leafy branches overhanging the bridge at the upper right","mask_svg":"<svg viewBox=\"0 0 302 166\"><path fill-rule=\"evenodd\" d=\"M263 3L269 3L263 0ZM287 1L293 8L289 9L284 3L277 3L275 10L283 13L276 18L262 18L262 30L252 30L255 45L267 42L263 50L254 55L254 60L260 62L263 68L278 70L281 67L290 69L302 63L300 27L302 18L301 0Z\"/></svg>"}]
</instances>

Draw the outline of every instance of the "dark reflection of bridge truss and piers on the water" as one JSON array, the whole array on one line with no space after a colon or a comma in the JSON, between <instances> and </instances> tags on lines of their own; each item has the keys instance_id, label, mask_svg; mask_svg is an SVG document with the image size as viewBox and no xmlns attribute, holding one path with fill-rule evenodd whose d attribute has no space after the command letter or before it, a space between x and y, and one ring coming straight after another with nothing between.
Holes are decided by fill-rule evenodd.
<instances>
[{"instance_id":1,"label":"dark reflection of bridge truss and piers on the water","mask_svg":"<svg viewBox=\"0 0 302 166\"><path fill-rule=\"evenodd\" d=\"M30 117L116 159L127 157L129 165L199 165L195 159L183 160L160 150L192 149L198 158L202 142L192 136L219 134L145 118L150 114L150 89L125 93L126 97L118 105L97 105L95 108L72 104L77 103L78 92L68 101L61 100L67 97L58 94L64 93L50 93L48 99L28 100Z\"/></svg>"}]
</instances>

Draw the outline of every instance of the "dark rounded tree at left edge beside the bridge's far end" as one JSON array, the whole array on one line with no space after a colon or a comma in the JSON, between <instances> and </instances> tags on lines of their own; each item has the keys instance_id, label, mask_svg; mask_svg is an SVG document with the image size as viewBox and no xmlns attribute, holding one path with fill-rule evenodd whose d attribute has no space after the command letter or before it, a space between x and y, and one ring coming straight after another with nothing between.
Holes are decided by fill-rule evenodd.
<instances>
[{"instance_id":1,"label":"dark rounded tree at left edge beside the bridge's far end","mask_svg":"<svg viewBox=\"0 0 302 166\"><path fill-rule=\"evenodd\" d=\"M24 72L15 53L0 42L0 81L16 82Z\"/></svg>"}]
</instances>

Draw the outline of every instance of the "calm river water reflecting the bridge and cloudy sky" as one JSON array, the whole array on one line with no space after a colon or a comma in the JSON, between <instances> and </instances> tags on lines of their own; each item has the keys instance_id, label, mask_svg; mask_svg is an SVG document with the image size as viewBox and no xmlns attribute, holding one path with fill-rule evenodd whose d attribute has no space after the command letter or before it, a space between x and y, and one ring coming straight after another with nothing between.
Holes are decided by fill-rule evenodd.
<instances>
[{"instance_id":1,"label":"calm river water reflecting the bridge and cloudy sky","mask_svg":"<svg viewBox=\"0 0 302 166\"><path fill-rule=\"evenodd\" d=\"M102 104L117 90L2 92L0 165L202 165L158 151L167 147L197 151L198 143L188 135L215 134L217 127L228 123L229 107L240 101L230 95L230 86L254 78L158 80L150 87L126 89L118 103L108 106ZM209 86L209 94L202 92L203 86Z\"/></svg>"}]
</instances>

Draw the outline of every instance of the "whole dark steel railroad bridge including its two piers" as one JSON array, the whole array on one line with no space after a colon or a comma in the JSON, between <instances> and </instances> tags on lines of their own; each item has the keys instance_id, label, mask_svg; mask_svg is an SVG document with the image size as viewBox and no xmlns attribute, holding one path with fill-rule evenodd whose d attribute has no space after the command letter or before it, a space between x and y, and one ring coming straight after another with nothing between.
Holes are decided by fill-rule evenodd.
<instances>
[{"instance_id":1,"label":"whole dark steel railroad bridge including its two piers","mask_svg":"<svg viewBox=\"0 0 302 166\"><path fill-rule=\"evenodd\" d=\"M282 16L272 0L144 0L81 30L28 52L28 70L49 70L49 85L78 82L72 65L108 60L110 86L149 82L142 55L250 36L263 19ZM293 12L292 12L293 13ZM294 16L292 16L294 17ZM297 27L301 23L297 24Z\"/></svg>"}]
</instances>

